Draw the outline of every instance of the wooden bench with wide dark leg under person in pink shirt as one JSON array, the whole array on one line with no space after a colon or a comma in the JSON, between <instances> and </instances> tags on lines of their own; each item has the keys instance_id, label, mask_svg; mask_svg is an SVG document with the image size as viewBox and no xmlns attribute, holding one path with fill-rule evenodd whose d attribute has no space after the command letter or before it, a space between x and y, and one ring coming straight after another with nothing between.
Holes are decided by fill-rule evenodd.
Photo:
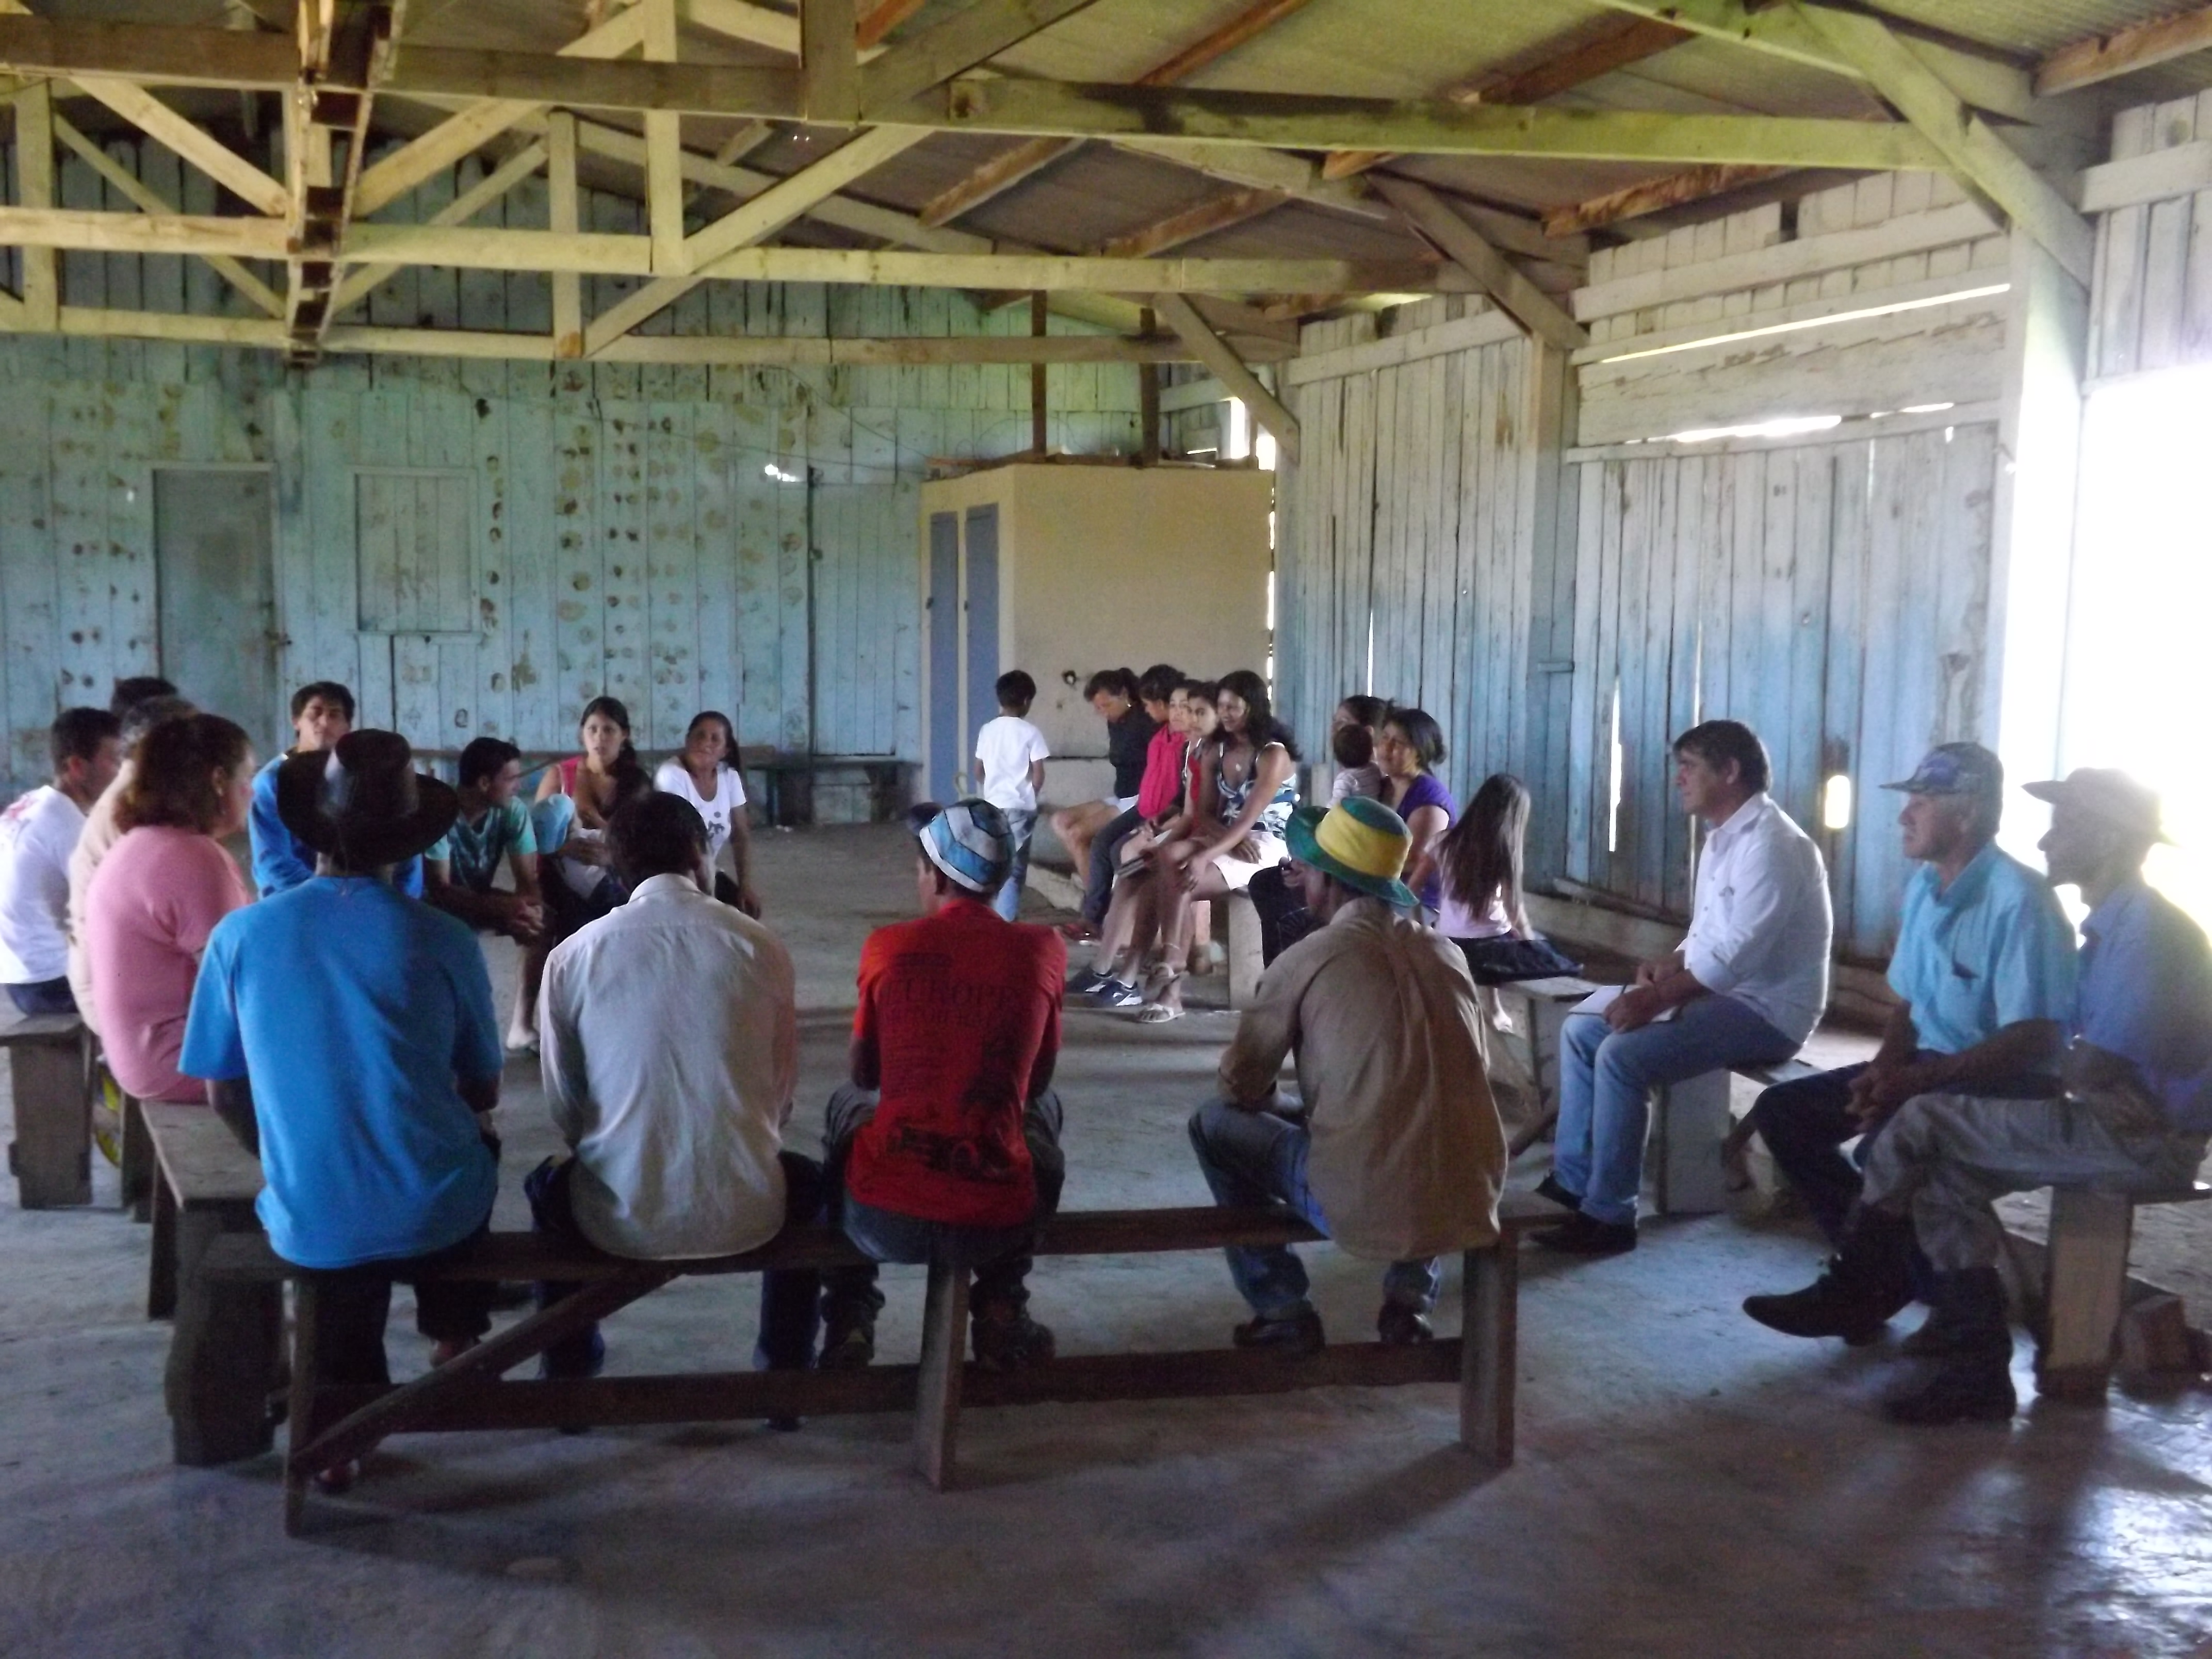
<instances>
[{"instance_id":1,"label":"wooden bench with wide dark leg under person in pink shirt","mask_svg":"<svg viewBox=\"0 0 2212 1659\"><path fill-rule=\"evenodd\" d=\"M283 1285L210 1279L226 1234L261 1239L261 1161L208 1106L142 1108L155 1155L146 1318L175 1316L164 1396L170 1451L206 1467L252 1458L274 1440L270 1394L283 1374Z\"/></svg>"}]
</instances>

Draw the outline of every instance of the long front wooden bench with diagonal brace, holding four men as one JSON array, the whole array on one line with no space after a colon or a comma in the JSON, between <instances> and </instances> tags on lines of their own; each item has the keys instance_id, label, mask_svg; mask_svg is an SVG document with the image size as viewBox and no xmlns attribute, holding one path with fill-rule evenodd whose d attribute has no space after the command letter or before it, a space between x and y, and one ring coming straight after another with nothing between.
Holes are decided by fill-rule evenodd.
<instances>
[{"instance_id":1,"label":"long front wooden bench with diagonal brace, holding four men","mask_svg":"<svg viewBox=\"0 0 2212 1659\"><path fill-rule=\"evenodd\" d=\"M1464 1259L1464 1314L1458 1343L1413 1347L1332 1345L1292 1356L1267 1349L1177 1354L1084 1354L1011 1374L964 1363L964 1272L931 1265L918 1365L863 1371L717 1371L690 1376L599 1376L584 1380L502 1380L588 1321L648 1296L686 1274L743 1274L768 1267L858 1263L852 1243L827 1228L801 1228L763 1250L719 1261L639 1263L575 1252L540 1234L491 1234L440 1270L440 1279L553 1279L582 1290L557 1307L529 1314L478 1347L396 1387L338 1387L321 1380L314 1354L314 1274L281 1261L265 1239L217 1239L199 1263L206 1281L274 1287L296 1281L292 1345L285 1528L303 1522L314 1471L356 1458L403 1431L549 1429L562 1425L721 1422L732 1418L914 1411L914 1455L931 1486L956 1482L962 1405L1079 1400L1159 1400L1223 1394L1400 1383L1460 1385L1460 1442L1491 1469L1513 1462L1513 1380L1520 1230L1559 1217L1531 1194L1500 1201L1500 1243ZM1321 1234L1276 1210L1095 1210L1062 1214L1044 1230L1040 1256L1219 1250L1230 1243L1310 1243Z\"/></svg>"}]
</instances>

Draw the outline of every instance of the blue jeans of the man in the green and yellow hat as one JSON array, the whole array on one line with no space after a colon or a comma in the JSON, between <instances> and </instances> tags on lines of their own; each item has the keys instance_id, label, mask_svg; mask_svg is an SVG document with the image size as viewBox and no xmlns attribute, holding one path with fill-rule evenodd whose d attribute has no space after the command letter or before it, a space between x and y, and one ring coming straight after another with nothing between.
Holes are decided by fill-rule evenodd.
<instances>
[{"instance_id":1,"label":"blue jeans of the man in the green and yellow hat","mask_svg":"<svg viewBox=\"0 0 2212 1659\"><path fill-rule=\"evenodd\" d=\"M1283 1206L1292 1214L1329 1230L1321 1201L1305 1183L1305 1155L1314 1137L1305 1128L1305 1106L1287 1091L1270 1110L1245 1110L1219 1095L1190 1115L1190 1150L1199 1172L1221 1206ZM1230 1279L1261 1318L1292 1318L1312 1312L1305 1298L1305 1263L1290 1245L1230 1245ZM1394 1261L1383 1270L1383 1298L1418 1314L1436 1307L1444 1283L1442 1263Z\"/></svg>"}]
</instances>

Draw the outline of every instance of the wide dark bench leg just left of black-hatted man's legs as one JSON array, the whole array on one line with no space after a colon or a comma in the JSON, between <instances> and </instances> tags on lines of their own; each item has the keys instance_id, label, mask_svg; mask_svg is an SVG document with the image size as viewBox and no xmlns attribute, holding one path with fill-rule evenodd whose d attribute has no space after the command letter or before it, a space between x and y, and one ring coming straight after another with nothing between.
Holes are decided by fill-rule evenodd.
<instances>
[{"instance_id":1,"label":"wide dark bench leg just left of black-hatted man's legs","mask_svg":"<svg viewBox=\"0 0 2212 1659\"><path fill-rule=\"evenodd\" d=\"M270 1449L270 1385L283 1340L283 1285L210 1283L199 1259L217 1234L259 1230L246 1217L177 1217L177 1327L168 1343L170 1444L195 1469Z\"/></svg>"}]
</instances>

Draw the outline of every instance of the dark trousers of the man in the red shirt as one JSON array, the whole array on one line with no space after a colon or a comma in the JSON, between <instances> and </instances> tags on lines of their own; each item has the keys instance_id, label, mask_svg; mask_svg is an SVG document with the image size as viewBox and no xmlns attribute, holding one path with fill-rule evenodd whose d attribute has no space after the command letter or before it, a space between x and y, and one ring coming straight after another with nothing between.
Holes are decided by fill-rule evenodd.
<instances>
[{"instance_id":1,"label":"dark trousers of the man in the red shirt","mask_svg":"<svg viewBox=\"0 0 2212 1659\"><path fill-rule=\"evenodd\" d=\"M1037 1225L1060 1210L1060 1188L1068 1164L1060 1152L1060 1095L1046 1088L1022 1113L1022 1139L1029 1144L1029 1166L1037 1183L1037 1208L1013 1228L962 1228L951 1221L925 1221L874 1203L860 1203L845 1192L845 1159L852 1137L876 1115L874 1088L838 1086L823 1117L825 1203L832 1219L872 1261L865 1267L832 1267L823 1274L823 1318L832 1325L874 1323L883 1307L876 1290L876 1263L942 1261L975 1274L969 1307L1026 1307L1031 1250Z\"/></svg>"}]
</instances>

